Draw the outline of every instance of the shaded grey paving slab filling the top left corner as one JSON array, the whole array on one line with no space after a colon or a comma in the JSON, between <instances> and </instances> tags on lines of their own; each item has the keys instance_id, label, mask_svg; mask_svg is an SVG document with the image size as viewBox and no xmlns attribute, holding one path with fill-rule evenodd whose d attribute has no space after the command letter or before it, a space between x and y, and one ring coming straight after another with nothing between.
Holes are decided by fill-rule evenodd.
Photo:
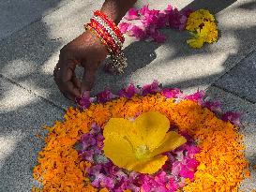
<instances>
[{"instance_id":1,"label":"shaded grey paving slab filling the top left corner","mask_svg":"<svg viewBox=\"0 0 256 192\"><path fill-rule=\"evenodd\" d=\"M63 6L68 0L8 0L0 2L0 39L37 21L55 8Z\"/></svg>"}]
</instances>

